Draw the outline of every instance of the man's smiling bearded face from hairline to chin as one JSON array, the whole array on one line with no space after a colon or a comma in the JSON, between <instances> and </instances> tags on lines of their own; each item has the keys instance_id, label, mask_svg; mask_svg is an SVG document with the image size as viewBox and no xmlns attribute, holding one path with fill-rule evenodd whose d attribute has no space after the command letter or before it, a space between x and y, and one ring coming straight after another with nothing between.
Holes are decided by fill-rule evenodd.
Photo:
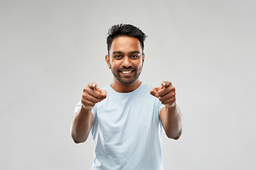
<instances>
[{"instance_id":1,"label":"man's smiling bearded face from hairline to chin","mask_svg":"<svg viewBox=\"0 0 256 170\"><path fill-rule=\"evenodd\" d=\"M139 81L142 72L144 54L137 38L121 36L114 38L106 62L116 80L122 84Z\"/></svg>"}]
</instances>

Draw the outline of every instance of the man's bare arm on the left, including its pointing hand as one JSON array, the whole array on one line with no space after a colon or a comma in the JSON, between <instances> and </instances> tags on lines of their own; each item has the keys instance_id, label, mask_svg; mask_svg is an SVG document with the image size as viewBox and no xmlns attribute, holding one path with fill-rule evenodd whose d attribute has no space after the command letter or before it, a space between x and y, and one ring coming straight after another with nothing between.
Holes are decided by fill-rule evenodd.
<instances>
[{"instance_id":1,"label":"man's bare arm on the left, including its pointing hand","mask_svg":"<svg viewBox=\"0 0 256 170\"><path fill-rule=\"evenodd\" d=\"M97 88L97 84L88 84L82 93L82 106L80 111L75 113L71 122L71 136L75 143L85 142L90 133L93 123L91 113L95 103L104 100L107 92Z\"/></svg>"}]
</instances>

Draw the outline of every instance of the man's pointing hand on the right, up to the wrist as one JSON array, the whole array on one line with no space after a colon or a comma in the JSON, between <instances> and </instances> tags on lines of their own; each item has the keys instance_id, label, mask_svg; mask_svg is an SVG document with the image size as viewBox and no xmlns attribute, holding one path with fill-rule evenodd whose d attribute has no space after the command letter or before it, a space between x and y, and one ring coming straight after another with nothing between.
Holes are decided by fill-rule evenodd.
<instances>
[{"instance_id":1,"label":"man's pointing hand on the right, up to the wrist","mask_svg":"<svg viewBox=\"0 0 256 170\"><path fill-rule=\"evenodd\" d=\"M159 98L159 101L161 101L161 103L164 104L166 108L175 106L175 88L169 81L162 81L161 86L151 89L150 94L156 98Z\"/></svg>"}]
</instances>

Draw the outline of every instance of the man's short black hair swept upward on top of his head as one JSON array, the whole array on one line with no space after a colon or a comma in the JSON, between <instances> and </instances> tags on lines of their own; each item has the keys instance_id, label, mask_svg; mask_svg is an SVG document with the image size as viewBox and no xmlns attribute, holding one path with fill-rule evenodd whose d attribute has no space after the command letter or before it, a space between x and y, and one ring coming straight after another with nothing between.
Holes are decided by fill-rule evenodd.
<instances>
[{"instance_id":1,"label":"man's short black hair swept upward on top of his head","mask_svg":"<svg viewBox=\"0 0 256 170\"><path fill-rule=\"evenodd\" d=\"M110 47L114 38L119 36L129 36L134 37L139 40L142 45L142 52L144 50L144 40L146 39L146 34L142 32L139 28L132 26L130 24L117 24L110 28L107 36L107 51L110 52Z\"/></svg>"}]
</instances>

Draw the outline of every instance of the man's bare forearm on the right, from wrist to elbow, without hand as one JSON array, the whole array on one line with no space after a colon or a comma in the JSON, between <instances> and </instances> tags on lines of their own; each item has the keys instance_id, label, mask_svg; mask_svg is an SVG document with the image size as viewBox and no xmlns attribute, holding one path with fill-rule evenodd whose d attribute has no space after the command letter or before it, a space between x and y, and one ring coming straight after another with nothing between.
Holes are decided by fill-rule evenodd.
<instances>
[{"instance_id":1,"label":"man's bare forearm on the right, from wrist to elbow, without hand","mask_svg":"<svg viewBox=\"0 0 256 170\"><path fill-rule=\"evenodd\" d=\"M165 107L166 114L164 118L164 130L169 138L178 140L183 128L183 116L180 109L174 104L171 107Z\"/></svg>"}]
</instances>

